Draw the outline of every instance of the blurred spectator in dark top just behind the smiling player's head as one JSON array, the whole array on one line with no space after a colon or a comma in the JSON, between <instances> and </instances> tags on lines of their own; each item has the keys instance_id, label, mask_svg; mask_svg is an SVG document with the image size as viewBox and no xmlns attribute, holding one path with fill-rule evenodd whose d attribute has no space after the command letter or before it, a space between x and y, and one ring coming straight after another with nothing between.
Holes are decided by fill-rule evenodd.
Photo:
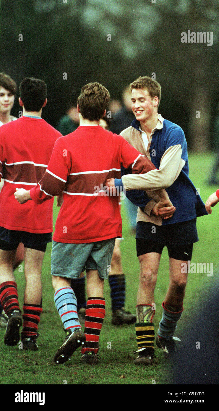
<instances>
[{"instance_id":1,"label":"blurred spectator in dark top just behind the smiling player's head","mask_svg":"<svg viewBox=\"0 0 219 411\"><path fill-rule=\"evenodd\" d=\"M124 106L122 106L122 108L117 113L115 113L111 123L110 130L116 134L120 134L122 130L130 127L132 121L135 118L131 110L131 91L129 90L129 86L124 88L122 92L122 102ZM138 207L131 203L131 201L129 201L126 197L124 199L124 205L127 212L127 217L129 219L131 233L134 234L136 230L136 217Z\"/></svg>"}]
</instances>

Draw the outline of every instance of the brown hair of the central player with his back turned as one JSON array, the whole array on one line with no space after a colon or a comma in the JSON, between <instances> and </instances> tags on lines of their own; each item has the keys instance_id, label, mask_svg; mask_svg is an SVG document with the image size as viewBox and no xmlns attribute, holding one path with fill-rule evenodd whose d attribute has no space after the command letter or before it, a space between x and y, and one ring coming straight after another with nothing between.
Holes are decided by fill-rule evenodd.
<instances>
[{"instance_id":1,"label":"brown hair of the central player with his back turned","mask_svg":"<svg viewBox=\"0 0 219 411\"><path fill-rule=\"evenodd\" d=\"M88 83L81 89L78 106L83 118L99 121L110 101L108 90L100 83Z\"/></svg>"}]
</instances>

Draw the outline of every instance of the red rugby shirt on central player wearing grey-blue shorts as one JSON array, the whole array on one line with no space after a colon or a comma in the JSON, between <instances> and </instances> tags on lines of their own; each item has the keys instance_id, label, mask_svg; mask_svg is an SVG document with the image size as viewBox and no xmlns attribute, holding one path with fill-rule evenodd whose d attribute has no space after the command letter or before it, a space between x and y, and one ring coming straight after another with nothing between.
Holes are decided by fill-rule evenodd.
<instances>
[{"instance_id":1,"label":"red rugby shirt on central player wearing grey-blue shorts","mask_svg":"<svg viewBox=\"0 0 219 411\"><path fill-rule=\"evenodd\" d=\"M98 125L79 126L56 141L44 177L30 190L38 204L63 191L53 240L85 243L122 236L120 196L104 192L106 178L120 178L120 164L135 173L155 169L122 136Z\"/></svg>"}]
</instances>

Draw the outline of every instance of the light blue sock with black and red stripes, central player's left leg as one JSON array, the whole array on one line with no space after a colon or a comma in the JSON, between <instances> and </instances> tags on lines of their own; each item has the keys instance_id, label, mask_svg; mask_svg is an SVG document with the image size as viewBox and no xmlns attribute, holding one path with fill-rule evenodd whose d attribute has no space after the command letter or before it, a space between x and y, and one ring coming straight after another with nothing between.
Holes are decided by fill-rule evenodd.
<instances>
[{"instance_id":1,"label":"light blue sock with black and red stripes, central player's left leg","mask_svg":"<svg viewBox=\"0 0 219 411\"><path fill-rule=\"evenodd\" d=\"M55 307L65 330L81 328L77 313L77 300L71 287L63 287L55 292Z\"/></svg>"}]
</instances>

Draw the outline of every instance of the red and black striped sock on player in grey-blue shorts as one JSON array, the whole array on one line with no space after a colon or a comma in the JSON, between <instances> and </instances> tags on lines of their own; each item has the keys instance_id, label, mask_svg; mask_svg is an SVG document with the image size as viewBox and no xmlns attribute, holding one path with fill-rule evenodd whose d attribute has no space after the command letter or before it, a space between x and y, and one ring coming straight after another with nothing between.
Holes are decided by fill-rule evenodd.
<instances>
[{"instance_id":1,"label":"red and black striped sock on player in grey-blue shorts","mask_svg":"<svg viewBox=\"0 0 219 411\"><path fill-rule=\"evenodd\" d=\"M85 335L86 342L81 350L84 354L86 351L93 351L97 354L99 350L99 335L105 317L105 298L90 297L87 301L85 311Z\"/></svg>"}]
</instances>

